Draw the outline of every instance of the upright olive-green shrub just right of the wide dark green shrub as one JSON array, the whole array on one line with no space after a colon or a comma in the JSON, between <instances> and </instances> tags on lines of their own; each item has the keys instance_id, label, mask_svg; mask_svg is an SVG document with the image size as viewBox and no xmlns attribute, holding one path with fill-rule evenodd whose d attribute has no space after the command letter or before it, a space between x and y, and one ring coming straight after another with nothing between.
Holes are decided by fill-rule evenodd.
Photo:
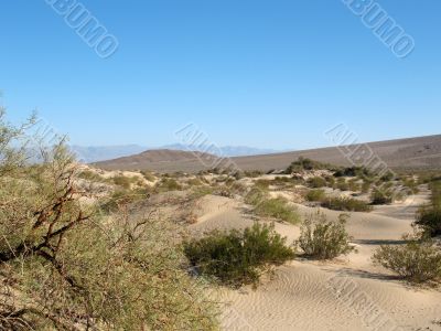
<instances>
[{"instance_id":1,"label":"upright olive-green shrub just right of the wide dark green shrub","mask_svg":"<svg viewBox=\"0 0 441 331\"><path fill-rule=\"evenodd\" d=\"M332 259L354 252L355 248L349 245L352 237L345 228L347 217L342 214L337 222L332 222L320 212L309 215L301 226L297 246L305 256L315 259Z\"/></svg>"}]
</instances>

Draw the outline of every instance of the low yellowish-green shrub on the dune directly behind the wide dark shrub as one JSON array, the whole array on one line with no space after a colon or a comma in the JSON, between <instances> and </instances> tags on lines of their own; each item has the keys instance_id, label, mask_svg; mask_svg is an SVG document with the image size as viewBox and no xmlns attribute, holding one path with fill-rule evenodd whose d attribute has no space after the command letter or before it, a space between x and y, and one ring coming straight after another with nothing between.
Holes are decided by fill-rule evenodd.
<instances>
[{"instance_id":1,"label":"low yellowish-green shrub on the dune directly behind the wide dark shrub","mask_svg":"<svg viewBox=\"0 0 441 331\"><path fill-rule=\"evenodd\" d=\"M300 222L300 215L295 207L289 205L284 197L263 199L254 212L263 217L273 217L291 224Z\"/></svg>"}]
</instances>

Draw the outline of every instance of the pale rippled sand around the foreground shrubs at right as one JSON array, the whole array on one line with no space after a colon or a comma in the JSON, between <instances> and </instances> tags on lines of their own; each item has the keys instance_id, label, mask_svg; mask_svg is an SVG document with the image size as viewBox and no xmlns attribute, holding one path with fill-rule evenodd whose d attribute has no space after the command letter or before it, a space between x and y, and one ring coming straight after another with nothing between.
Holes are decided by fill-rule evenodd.
<instances>
[{"instance_id":1,"label":"pale rippled sand around the foreground shrubs at right","mask_svg":"<svg viewBox=\"0 0 441 331\"><path fill-rule=\"evenodd\" d=\"M295 260L277 268L257 289L222 289L212 293L225 302L224 330L441 330L441 291L416 288L397 279L370 256L380 244L400 242L411 232L413 213L427 192L401 205L377 207L373 213L352 213L347 229L358 254L329 263ZM214 228L243 228L252 224L239 202L205 196L197 210L194 234ZM301 213L313 209L298 205ZM329 217L338 212L325 211ZM292 242L299 227L276 224ZM437 323L438 322L438 323Z\"/></svg>"}]
</instances>

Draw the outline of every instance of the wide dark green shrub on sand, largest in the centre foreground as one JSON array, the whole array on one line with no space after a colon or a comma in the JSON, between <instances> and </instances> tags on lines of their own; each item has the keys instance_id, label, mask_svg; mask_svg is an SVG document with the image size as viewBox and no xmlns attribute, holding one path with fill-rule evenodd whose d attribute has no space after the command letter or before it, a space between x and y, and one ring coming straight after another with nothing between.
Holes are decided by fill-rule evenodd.
<instances>
[{"instance_id":1,"label":"wide dark green shrub on sand, largest in the centre foreground","mask_svg":"<svg viewBox=\"0 0 441 331\"><path fill-rule=\"evenodd\" d=\"M185 242L184 253L201 275L234 287L257 285L267 267L294 257L273 225L257 223L243 233L215 231L202 239Z\"/></svg>"}]
</instances>

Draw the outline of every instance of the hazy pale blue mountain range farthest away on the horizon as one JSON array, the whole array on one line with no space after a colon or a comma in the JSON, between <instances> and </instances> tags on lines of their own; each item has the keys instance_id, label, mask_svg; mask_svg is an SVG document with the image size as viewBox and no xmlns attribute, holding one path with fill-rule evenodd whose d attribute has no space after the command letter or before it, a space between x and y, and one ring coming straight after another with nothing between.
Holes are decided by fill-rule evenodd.
<instances>
[{"instance_id":1,"label":"hazy pale blue mountain range farthest away on the horizon","mask_svg":"<svg viewBox=\"0 0 441 331\"><path fill-rule=\"evenodd\" d=\"M176 151L201 151L208 152L216 157L246 157L258 154L270 154L277 152L272 149L260 149L246 146L225 146L219 148L204 148L204 147L187 147L181 143L168 145L159 148L151 148L139 145L122 145L122 146L98 146L98 147L84 147L71 146L72 151L77 156L78 160L84 163L93 163L106 160L118 159L139 154L149 150L176 150Z\"/></svg>"}]
</instances>

